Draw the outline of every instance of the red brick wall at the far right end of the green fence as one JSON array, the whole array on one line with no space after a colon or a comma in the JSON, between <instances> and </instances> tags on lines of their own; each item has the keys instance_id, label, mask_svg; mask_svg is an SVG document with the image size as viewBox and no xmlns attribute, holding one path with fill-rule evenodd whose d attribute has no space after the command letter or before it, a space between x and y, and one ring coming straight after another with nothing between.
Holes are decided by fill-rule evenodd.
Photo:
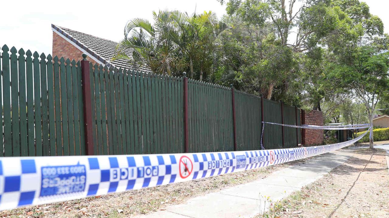
<instances>
[{"instance_id":1,"label":"red brick wall at the far right end of the green fence","mask_svg":"<svg viewBox=\"0 0 389 218\"><path fill-rule=\"evenodd\" d=\"M306 125L324 125L323 112L309 111L301 112L301 124ZM324 140L324 130L302 129L301 142L303 145L322 145Z\"/></svg>"}]
</instances>

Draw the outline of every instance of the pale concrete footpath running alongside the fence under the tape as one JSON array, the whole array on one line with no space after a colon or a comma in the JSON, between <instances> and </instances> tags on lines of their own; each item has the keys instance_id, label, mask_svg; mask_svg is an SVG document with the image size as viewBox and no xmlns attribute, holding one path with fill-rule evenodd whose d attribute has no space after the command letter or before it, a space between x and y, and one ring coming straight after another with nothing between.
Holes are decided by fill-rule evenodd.
<instances>
[{"instance_id":1,"label":"pale concrete footpath running alongside the fence under the tape","mask_svg":"<svg viewBox=\"0 0 389 218\"><path fill-rule=\"evenodd\" d=\"M266 178L188 199L163 211L139 218L249 218L266 211L272 202L281 200L314 182L352 156L352 150L339 150L314 157L275 171ZM266 197L265 197L266 196ZM268 198L269 197L269 198Z\"/></svg>"}]
</instances>

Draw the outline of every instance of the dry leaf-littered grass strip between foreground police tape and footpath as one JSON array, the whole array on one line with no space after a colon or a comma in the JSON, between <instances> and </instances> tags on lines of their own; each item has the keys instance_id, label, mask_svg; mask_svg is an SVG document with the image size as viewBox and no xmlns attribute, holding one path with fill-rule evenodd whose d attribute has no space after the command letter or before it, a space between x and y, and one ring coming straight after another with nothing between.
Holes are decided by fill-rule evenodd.
<instances>
[{"instance_id":1,"label":"dry leaf-littered grass strip between foreground police tape and footpath","mask_svg":"<svg viewBox=\"0 0 389 218\"><path fill-rule=\"evenodd\" d=\"M159 187L0 211L0 217L133 217L163 210L170 204L180 204L191 197L265 178L273 171L306 160Z\"/></svg>"}]
</instances>

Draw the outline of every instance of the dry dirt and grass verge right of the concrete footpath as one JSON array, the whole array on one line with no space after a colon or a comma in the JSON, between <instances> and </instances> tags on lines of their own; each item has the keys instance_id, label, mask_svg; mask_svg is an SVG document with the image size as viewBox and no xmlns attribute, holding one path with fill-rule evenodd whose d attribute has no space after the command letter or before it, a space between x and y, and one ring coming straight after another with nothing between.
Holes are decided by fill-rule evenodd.
<instances>
[{"instance_id":1,"label":"dry dirt and grass verge right of the concrete footpath","mask_svg":"<svg viewBox=\"0 0 389 218\"><path fill-rule=\"evenodd\" d=\"M382 149L359 149L344 164L257 217L389 217L386 155Z\"/></svg>"}]
</instances>

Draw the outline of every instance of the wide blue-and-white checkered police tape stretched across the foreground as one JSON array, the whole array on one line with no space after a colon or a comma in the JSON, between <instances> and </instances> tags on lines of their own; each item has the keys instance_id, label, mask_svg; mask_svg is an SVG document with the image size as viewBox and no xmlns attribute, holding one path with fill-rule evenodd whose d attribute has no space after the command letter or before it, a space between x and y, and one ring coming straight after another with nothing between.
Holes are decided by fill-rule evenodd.
<instances>
[{"instance_id":1,"label":"wide blue-and-white checkered police tape stretched across the foreground","mask_svg":"<svg viewBox=\"0 0 389 218\"><path fill-rule=\"evenodd\" d=\"M366 132L367 133L367 132ZM154 187L285 163L351 145L260 151L0 158L0 210Z\"/></svg>"}]
</instances>

